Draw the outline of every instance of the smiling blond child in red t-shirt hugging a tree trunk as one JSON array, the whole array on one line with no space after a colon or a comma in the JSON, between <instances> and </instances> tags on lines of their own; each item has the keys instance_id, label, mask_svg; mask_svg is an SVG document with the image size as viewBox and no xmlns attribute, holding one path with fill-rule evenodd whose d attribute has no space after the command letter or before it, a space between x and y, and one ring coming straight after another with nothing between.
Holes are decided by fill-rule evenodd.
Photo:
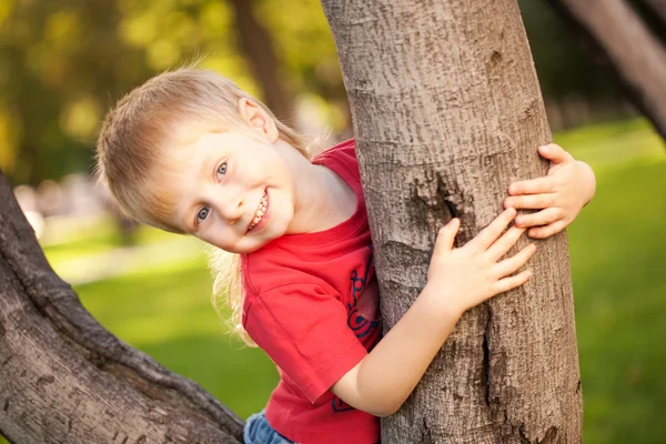
<instances>
[{"instance_id":1,"label":"smiling blond child in red t-shirt hugging a tree trunk","mask_svg":"<svg viewBox=\"0 0 666 444\"><path fill-rule=\"evenodd\" d=\"M427 284L380 341L353 140L309 159L260 101L214 72L180 69L119 101L98 144L101 178L128 213L236 253L216 286L281 376L246 443L376 443L379 417L400 408L461 315L527 281L514 273L534 244L504 258L525 230L553 235L592 199L589 167L554 144L539 153L548 175L511 184L507 209L476 238L454 249L456 219L440 231ZM542 211L514 221L515 209Z\"/></svg>"}]
</instances>

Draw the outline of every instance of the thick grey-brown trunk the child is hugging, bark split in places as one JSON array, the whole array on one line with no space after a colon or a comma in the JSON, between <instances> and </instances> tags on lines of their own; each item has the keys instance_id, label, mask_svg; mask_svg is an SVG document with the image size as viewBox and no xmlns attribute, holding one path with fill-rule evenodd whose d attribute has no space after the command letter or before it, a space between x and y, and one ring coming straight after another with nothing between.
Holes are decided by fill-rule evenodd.
<instances>
[{"instance_id":1,"label":"thick grey-brown trunk the child is hugging, bark split in places","mask_svg":"<svg viewBox=\"0 0 666 444\"><path fill-rule=\"evenodd\" d=\"M458 242L545 174L551 141L515 0L322 0L341 58L385 330L425 284L436 230ZM528 241L523 239L517 248ZM514 253L517 250L514 250ZM463 315L382 443L579 443L582 396L564 233L532 280Z\"/></svg>"}]
</instances>

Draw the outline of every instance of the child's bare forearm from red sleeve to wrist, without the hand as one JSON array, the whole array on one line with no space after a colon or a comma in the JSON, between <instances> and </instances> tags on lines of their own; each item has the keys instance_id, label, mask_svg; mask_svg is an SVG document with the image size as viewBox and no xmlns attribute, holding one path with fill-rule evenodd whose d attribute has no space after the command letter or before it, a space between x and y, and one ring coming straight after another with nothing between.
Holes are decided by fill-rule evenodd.
<instances>
[{"instance_id":1,"label":"child's bare forearm from red sleeve to wrist, without the hand","mask_svg":"<svg viewBox=\"0 0 666 444\"><path fill-rule=\"evenodd\" d=\"M357 408L377 416L395 413L453 331L460 313L442 307L434 291L424 289L356 369Z\"/></svg>"}]
</instances>

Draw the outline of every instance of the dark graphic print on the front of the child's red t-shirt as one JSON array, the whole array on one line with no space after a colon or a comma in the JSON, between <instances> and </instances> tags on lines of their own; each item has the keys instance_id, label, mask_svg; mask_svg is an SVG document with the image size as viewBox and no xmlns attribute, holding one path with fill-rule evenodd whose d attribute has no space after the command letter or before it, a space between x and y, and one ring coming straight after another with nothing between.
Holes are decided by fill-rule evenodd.
<instances>
[{"instance_id":1,"label":"dark graphic print on the front of the child's red t-shirt","mask_svg":"<svg viewBox=\"0 0 666 444\"><path fill-rule=\"evenodd\" d=\"M370 249L372 251L372 245ZM370 352L380 341L381 327L379 313L380 291L377 280L374 275L372 253L367 258L364 268L365 270L362 271L362 276L356 270L352 271L350 276L353 303L347 304L347 325ZM367 344L370 344L370 346ZM331 400L331 407L334 412L354 410L354 407L346 404L337 396Z\"/></svg>"}]
</instances>

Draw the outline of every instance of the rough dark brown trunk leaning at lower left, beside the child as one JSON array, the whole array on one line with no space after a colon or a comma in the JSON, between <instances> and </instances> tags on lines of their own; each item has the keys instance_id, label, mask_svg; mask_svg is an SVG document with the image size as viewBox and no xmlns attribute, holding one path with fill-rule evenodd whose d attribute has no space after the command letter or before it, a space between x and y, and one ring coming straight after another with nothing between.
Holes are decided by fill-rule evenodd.
<instances>
[{"instance_id":1,"label":"rough dark brown trunk leaning at lower left, beside the child","mask_svg":"<svg viewBox=\"0 0 666 444\"><path fill-rule=\"evenodd\" d=\"M0 435L17 444L242 443L240 418L81 306L1 172L0 208Z\"/></svg>"}]
</instances>

